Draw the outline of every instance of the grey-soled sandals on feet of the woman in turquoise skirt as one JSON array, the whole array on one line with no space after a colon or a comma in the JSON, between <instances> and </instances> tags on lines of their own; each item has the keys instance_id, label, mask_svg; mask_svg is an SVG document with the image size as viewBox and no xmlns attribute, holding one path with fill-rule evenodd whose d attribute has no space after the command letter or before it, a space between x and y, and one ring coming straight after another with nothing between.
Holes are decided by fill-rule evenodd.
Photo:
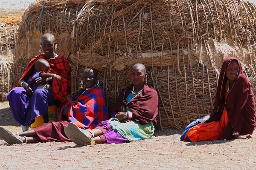
<instances>
[{"instance_id":1,"label":"grey-soled sandals on feet of the woman in turquoise skirt","mask_svg":"<svg viewBox=\"0 0 256 170\"><path fill-rule=\"evenodd\" d=\"M84 143L89 143L90 141L92 141L89 130L83 130L77 127L76 124L72 122L67 125L67 129L74 137L80 139Z\"/></svg>"}]
</instances>

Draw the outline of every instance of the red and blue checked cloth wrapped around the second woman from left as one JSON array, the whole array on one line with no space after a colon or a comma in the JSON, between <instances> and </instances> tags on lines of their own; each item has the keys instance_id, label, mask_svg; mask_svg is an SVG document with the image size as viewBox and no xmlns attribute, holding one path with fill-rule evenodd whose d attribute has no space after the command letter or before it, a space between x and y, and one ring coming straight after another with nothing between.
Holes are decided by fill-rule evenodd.
<instances>
[{"instance_id":1,"label":"red and blue checked cloth wrapped around the second woman from left","mask_svg":"<svg viewBox=\"0 0 256 170\"><path fill-rule=\"evenodd\" d=\"M108 119L104 93L98 86L84 91L75 101L70 98L62 110L67 107L72 107L68 113L68 121L81 129L94 129L100 122ZM61 120L61 115L59 119Z\"/></svg>"}]
</instances>

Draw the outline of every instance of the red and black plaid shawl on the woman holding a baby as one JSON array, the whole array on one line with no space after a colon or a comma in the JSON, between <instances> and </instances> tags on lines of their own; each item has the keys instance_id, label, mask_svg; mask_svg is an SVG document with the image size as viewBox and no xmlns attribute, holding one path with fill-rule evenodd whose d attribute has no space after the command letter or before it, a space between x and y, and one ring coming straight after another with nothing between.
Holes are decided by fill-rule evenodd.
<instances>
[{"instance_id":1,"label":"red and black plaid shawl on the woman holding a baby","mask_svg":"<svg viewBox=\"0 0 256 170\"><path fill-rule=\"evenodd\" d=\"M23 73L18 82L18 86L20 86L21 79L24 78L24 76L29 72L30 69L34 68L33 66L39 58L44 58L48 61L50 65L49 73L61 76L61 80L57 80L56 78L54 78L52 81L52 95L55 100L59 100L61 101L61 103L64 103L65 101L67 101L66 96L70 93L71 89L71 69L67 58L63 56L58 56L55 58L48 58L44 54L35 56L27 65L25 72Z\"/></svg>"}]
</instances>

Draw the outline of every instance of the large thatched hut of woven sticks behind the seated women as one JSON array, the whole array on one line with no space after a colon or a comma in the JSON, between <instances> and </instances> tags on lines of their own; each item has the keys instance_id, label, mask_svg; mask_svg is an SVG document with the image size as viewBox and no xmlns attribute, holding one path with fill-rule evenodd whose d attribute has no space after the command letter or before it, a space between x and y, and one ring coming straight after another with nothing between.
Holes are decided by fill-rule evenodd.
<instances>
[{"instance_id":1,"label":"large thatched hut of woven sticks behind the seated women","mask_svg":"<svg viewBox=\"0 0 256 170\"><path fill-rule=\"evenodd\" d=\"M23 40L19 39L31 43L34 32L40 35L52 32L64 38L61 34L65 32L68 37L62 49L73 64L73 91L80 87L84 67L99 69L109 108L119 90L129 84L130 67L137 62L147 67L148 84L158 92L158 122L162 128L180 129L209 114L218 71L230 55L243 63L256 93L256 6L253 3L241 0L81 3L74 0L66 3L79 5L80 11L67 20L64 16L70 8L64 2L46 3L40 15L43 2L35 4L37 12L36 7L27 10L27 16L32 17L23 19L20 28L25 31L20 30ZM61 20L61 24L55 22L53 27L52 20ZM71 20L74 25L69 25ZM40 31L36 31L38 24ZM71 40L68 38L73 45L67 45ZM16 56L28 61L30 56L21 52L20 49Z\"/></svg>"}]
</instances>

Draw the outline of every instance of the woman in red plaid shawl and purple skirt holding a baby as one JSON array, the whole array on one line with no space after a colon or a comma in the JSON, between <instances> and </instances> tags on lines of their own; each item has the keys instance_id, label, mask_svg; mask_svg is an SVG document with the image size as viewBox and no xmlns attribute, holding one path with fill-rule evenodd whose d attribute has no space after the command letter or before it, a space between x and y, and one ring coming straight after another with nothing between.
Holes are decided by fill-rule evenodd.
<instances>
[{"instance_id":1,"label":"woman in red plaid shawl and purple skirt holding a baby","mask_svg":"<svg viewBox=\"0 0 256 170\"><path fill-rule=\"evenodd\" d=\"M28 126L34 123L39 115L43 116L44 123L48 123L48 105L61 106L67 101L66 96L70 93L71 86L70 64L65 57L54 53L56 48L55 37L52 34L43 35L40 45L40 52L42 50L43 53L32 58L18 82L18 87L12 89L6 96L13 117L22 125L23 131L28 130ZM32 86L26 83L28 78L35 74L35 62L40 58L48 61L49 73L52 77L38 77L36 82L38 84L48 83L52 86L52 92L47 89L33 91Z\"/></svg>"}]
</instances>

